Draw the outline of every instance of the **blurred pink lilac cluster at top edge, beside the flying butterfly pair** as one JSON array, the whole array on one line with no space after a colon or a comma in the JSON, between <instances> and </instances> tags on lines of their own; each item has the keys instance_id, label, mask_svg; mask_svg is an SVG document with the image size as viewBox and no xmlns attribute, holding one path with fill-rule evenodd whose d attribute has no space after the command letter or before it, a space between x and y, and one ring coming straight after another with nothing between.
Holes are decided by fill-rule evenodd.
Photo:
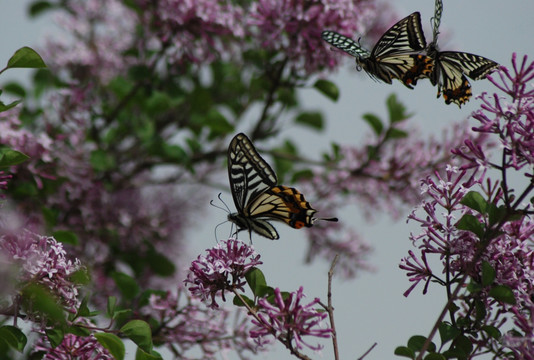
<instances>
[{"instance_id":1,"label":"blurred pink lilac cluster at top edge, beside the flying butterfly pair","mask_svg":"<svg viewBox=\"0 0 534 360\"><path fill-rule=\"evenodd\" d=\"M321 39L323 30L348 36L367 33L375 37L382 14L376 2L367 0L259 0L247 16L248 33L261 48L284 54L291 69L310 75L322 67L335 68L340 57Z\"/></svg>"}]
</instances>

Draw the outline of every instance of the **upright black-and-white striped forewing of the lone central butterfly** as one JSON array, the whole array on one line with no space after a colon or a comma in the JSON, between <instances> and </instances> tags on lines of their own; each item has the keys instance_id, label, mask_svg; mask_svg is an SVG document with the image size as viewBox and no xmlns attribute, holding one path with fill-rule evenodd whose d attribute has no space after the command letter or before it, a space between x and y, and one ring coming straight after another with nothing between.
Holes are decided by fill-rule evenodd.
<instances>
[{"instance_id":1,"label":"upright black-and-white striped forewing of the lone central butterfly","mask_svg":"<svg viewBox=\"0 0 534 360\"><path fill-rule=\"evenodd\" d=\"M234 136L228 146L228 177L232 197L240 214L278 181L273 169L243 133Z\"/></svg>"}]
</instances>

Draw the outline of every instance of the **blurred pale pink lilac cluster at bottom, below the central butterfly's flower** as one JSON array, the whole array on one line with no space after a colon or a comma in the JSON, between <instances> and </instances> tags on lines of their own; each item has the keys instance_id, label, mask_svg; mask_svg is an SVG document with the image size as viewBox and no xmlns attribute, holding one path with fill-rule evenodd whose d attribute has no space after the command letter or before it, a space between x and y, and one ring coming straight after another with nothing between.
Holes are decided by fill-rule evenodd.
<instances>
[{"instance_id":1,"label":"blurred pale pink lilac cluster at bottom, below the central butterfly's flower","mask_svg":"<svg viewBox=\"0 0 534 360\"><path fill-rule=\"evenodd\" d=\"M142 312L160 324L154 340L178 347L184 359L188 358L187 351L198 345L206 359L215 358L221 349L253 354L259 350L249 335L250 322L243 314L208 309L200 299L187 297L182 288L176 294L153 294Z\"/></svg>"}]
</instances>

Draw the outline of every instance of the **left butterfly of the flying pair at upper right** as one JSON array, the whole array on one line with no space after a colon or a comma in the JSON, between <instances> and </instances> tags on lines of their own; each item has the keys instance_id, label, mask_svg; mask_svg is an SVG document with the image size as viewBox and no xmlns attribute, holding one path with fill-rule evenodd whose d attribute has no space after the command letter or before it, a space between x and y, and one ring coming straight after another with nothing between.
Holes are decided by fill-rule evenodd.
<instances>
[{"instance_id":1,"label":"left butterfly of the flying pair at upper right","mask_svg":"<svg viewBox=\"0 0 534 360\"><path fill-rule=\"evenodd\" d=\"M371 52L362 48L359 42L335 31L325 30L321 36L330 45L354 56L358 68L388 84L392 79L398 79L413 89L417 80L428 77L434 66L430 57L419 54L426 48L419 12L408 15L389 28Z\"/></svg>"}]
</instances>

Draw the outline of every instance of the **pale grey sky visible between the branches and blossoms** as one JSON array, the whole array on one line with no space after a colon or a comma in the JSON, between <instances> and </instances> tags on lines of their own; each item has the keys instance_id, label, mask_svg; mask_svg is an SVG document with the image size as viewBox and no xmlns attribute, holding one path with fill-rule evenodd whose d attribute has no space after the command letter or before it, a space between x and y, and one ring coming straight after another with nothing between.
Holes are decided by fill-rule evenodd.
<instances>
[{"instance_id":1,"label":"pale grey sky visible between the branches and blossoms","mask_svg":"<svg viewBox=\"0 0 534 360\"><path fill-rule=\"evenodd\" d=\"M35 46L42 40L46 29L53 29L49 20L43 19L29 23L24 18L23 4L28 1L3 0L0 2L0 24L2 24L2 47L0 63L5 64L13 52L24 45ZM434 11L434 0L396 0L391 1L398 11L399 19L420 11L427 41L431 39L430 17ZM530 55L534 60L534 1L512 0L444 0L442 33L446 32L449 43L441 43L442 50L461 50L472 52L509 65L512 52L519 56ZM445 36L442 40L445 39ZM320 109L327 114L327 134L306 133L302 149L317 153L315 144L329 141L354 143L362 141L368 128L361 121L361 115L374 112L385 117L384 101L395 92L410 112L414 112L416 121L425 134L439 135L443 128L452 121L469 116L477 108L478 101L471 101L458 109L456 105L445 105L442 98L436 99L436 89L428 81L420 81L415 90L409 90L400 82L393 85L378 83L364 73L354 70L354 61L347 56L343 70L331 79L341 90L341 98L332 103L315 90L302 92L303 101L312 109ZM20 77L24 71L9 70L0 78ZM473 93L491 90L487 81L472 81ZM473 122L474 124L474 122ZM284 135L290 134L292 129ZM213 198L217 191L213 192ZM231 197L227 194L227 199ZM311 200L311 199L310 199ZM230 200L231 202L231 200ZM317 201L312 201L320 208ZM206 204L208 206L208 204ZM408 214L408 213L407 213ZM407 215L406 214L406 215ZM214 224L223 221L226 214L210 209ZM340 341L342 359L356 359L374 342L378 346L367 356L368 360L393 358L396 346L406 344L408 338L415 334L427 335L439 311L445 303L443 289L430 286L429 294L421 295L421 288L416 289L409 298L402 293L409 287L405 273L400 271L400 259L411 248L408 240L410 231L418 232L413 225L406 225L404 219L393 223L382 217L375 224L362 219L359 211L348 210L341 214L341 220L354 223L357 230L366 236L375 247L370 260L378 268L375 273L362 273L353 281L336 280L333 286L336 323ZM296 290L304 286L305 293L311 301L314 297L326 300L326 279L329 264L316 263L304 266L302 258L306 244L300 232L279 225L281 241L269 241L255 238L254 246L262 254L262 270L271 285L284 290ZM190 257L196 258L199 252L213 245L213 229L195 229L191 231L192 246ZM325 343L322 358L332 359L330 343ZM133 359L129 354L128 359ZM310 354L314 359L321 356ZM276 352L268 352L258 358L292 359L287 351L278 347Z\"/></svg>"}]
</instances>

